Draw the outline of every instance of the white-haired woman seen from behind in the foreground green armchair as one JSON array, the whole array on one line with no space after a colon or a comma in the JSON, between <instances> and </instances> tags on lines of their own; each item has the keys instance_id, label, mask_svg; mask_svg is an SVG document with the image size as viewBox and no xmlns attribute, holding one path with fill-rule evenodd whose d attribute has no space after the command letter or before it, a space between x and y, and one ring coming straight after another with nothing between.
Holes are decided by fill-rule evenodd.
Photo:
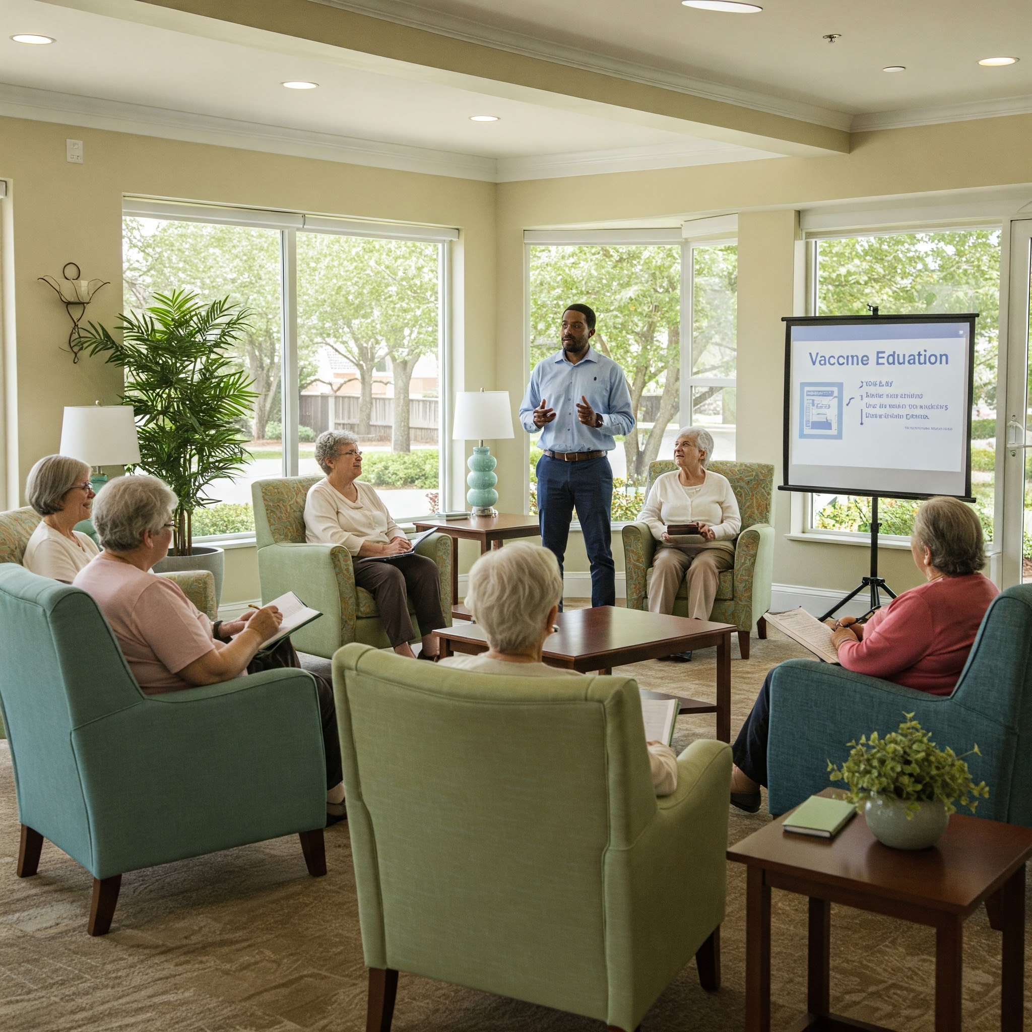
<instances>
[{"instance_id":1,"label":"white-haired woman seen from behind in the foreground green armchair","mask_svg":"<svg viewBox=\"0 0 1032 1032\"><path fill-rule=\"evenodd\" d=\"M553 552L519 542L482 555L470 569L465 605L484 628L486 652L453 655L444 667L518 677L583 677L542 662L545 639L555 627L562 577ZM669 745L648 742L652 785L657 796L677 788L677 756Z\"/></svg>"}]
</instances>

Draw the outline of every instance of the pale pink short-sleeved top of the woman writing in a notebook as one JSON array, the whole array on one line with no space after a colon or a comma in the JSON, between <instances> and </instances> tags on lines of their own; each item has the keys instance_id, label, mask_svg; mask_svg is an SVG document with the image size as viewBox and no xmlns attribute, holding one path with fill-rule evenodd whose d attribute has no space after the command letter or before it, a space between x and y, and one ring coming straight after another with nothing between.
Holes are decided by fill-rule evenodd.
<instances>
[{"instance_id":1,"label":"pale pink short-sleeved top of the woman writing in a notebook","mask_svg":"<svg viewBox=\"0 0 1032 1032\"><path fill-rule=\"evenodd\" d=\"M193 687L178 673L225 648L212 637L212 621L167 577L101 553L72 583L96 600L147 695Z\"/></svg>"}]
</instances>

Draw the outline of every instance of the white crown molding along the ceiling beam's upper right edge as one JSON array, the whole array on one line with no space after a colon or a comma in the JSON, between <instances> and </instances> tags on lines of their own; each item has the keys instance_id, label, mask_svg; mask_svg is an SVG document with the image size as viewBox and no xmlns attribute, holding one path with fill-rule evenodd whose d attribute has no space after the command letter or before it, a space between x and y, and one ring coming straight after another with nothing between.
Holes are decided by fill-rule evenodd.
<instances>
[{"instance_id":1,"label":"white crown molding along the ceiling beam's upper right edge","mask_svg":"<svg viewBox=\"0 0 1032 1032\"><path fill-rule=\"evenodd\" d=\"M767 93L727 86L722 83L712 83L681 72L657 68L654 65L639 64L636 61L599 54L595 51L559 45L509 29L488 30L483 23L474 19L446 14L443 11L430 11L408 0L315 0L315 2L326 7L340 7L355 14L392 22L395 25L405 25L410 29L420 29L439 36L461 39L467 43L479 43L509 54L519 54L521 57L550 61L569 68L601 72L632 83L641 83L644 86L657 86L665 90L748 107L767 115L780 115L830 129L849 128L851 116L845 111L787 100L783 97L772 97Z\"/></svg>"}]
</instances>

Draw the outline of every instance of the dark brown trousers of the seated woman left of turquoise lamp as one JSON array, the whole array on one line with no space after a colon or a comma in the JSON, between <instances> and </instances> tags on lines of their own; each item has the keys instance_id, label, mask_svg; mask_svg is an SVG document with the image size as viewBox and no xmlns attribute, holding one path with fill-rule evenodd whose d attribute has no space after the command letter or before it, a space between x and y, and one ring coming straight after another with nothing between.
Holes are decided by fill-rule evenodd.
<instances>
[{"instance_id":1,"label":"dark brown trousers of the seated woman left of turquoise lamp","mask_svg":"<svg viewBox=\"0 0 1032 1032\"><path fill-rule=\"evenodd\" d=\"M409 615L412 599L419 633L427 635L445 625L441 611L441 571L425 555L406 555L393 562L355 559L355 583L377 600L380 619L392 647L412 641L415 631Z\"/></svg>"}]
</instances>

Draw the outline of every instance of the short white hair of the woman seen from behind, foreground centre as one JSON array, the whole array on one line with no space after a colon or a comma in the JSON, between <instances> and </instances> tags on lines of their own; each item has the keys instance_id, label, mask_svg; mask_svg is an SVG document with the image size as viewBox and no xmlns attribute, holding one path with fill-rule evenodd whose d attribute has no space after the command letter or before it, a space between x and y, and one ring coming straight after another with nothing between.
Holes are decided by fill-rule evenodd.
<instances>
[{"instance_id":1,"label":"short white hair of the woman seen from behind, foreground centre","mask_svg":"<svg viewBox=\"0 0 1032 1032\"><path fill-rule=\"evenodd\" d=\"M535 648L548 611L561 598L559 563L541 545L506 545L486 552L470 569L465 604L497 652Z\"/></svg>"}]
</instances>

